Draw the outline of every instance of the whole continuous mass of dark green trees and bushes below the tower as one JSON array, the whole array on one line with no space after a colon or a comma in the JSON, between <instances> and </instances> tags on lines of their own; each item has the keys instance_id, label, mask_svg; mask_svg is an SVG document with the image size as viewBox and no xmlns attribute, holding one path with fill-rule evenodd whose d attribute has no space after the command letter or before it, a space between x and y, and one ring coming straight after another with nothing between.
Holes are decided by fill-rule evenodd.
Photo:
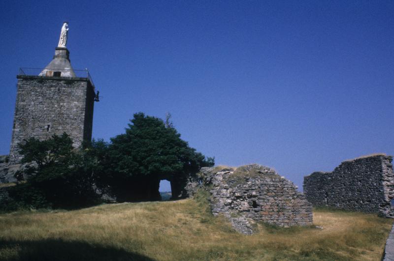
<instances>
[{"instance_id":1,"label":"whole continuous mass of dark green trees and bushes below the tower","mask_svg":"<svg viewBox=\"0 0 394 261\"><path fill-rule=\"evenodd\" d=\"M170 121L134 114L124 134L73 148L64 133L48 140L35 138L19 144L22 163L19 185L10 189L15 205L73 208L99 202L99 194L118 201L158 200L159 182L171 181L179 195L182 184L201 167L213 166L181 139ZM173 194L174 196L174 194ZM1 205L0 205L1 208Z\"/></svg>"}]
</instances>

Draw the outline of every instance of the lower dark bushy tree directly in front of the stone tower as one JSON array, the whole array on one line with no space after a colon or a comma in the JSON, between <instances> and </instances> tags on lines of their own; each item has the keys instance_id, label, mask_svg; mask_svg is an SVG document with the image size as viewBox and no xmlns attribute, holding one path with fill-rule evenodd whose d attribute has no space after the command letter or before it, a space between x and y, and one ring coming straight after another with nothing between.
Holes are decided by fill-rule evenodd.
<instances>
[{"instance_id":1,"label":"lower dark bushy tree directly in front of the stone tower","mask_svg":"<svg viewBox=\"0 0 394 261\"><path fill-rule=\"evenodd\" d=\"M94 190L98 163L89 148L74 149L66 133L44 141L30 138L19 147L21 162L32 163L23 173L26 183L11 191L21 204L73 208L98 201ZM26 191L34 196L25 197Z\"/></svg>"}]
</instances>

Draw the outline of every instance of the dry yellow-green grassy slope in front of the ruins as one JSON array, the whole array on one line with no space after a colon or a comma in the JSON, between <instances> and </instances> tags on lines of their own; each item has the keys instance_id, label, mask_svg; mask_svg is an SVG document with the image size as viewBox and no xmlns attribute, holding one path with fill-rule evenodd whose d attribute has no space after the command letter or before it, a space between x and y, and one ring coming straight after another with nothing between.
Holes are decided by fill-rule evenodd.
<instances>
[{"instance_id":1,"label":"dry yellow-green grassy slope in front of the ruins","mask_svg":"<svg viewBox=\"0 0 394 261\"><path fill-rule=\"evenodd\" d=\"M0 215L0 260L380 260L393 220L316 209L323 229L236 233L196 200Z\"/></svg>"}]
</instances>

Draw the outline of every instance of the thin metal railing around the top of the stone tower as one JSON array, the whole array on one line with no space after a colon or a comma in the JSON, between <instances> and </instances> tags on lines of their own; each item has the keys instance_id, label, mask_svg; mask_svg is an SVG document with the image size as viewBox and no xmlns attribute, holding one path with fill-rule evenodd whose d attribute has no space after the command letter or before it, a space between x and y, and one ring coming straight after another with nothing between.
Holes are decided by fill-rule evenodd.
<instances>
[{"instance_id":1,"label":"thin metal railing around the top of the stone tower","mask_svg":"<svg viewBox=\"0 0 394 261\"><path fill-rule=\"evenodd\" d=\"M48 73L49 72L49 73ZM59 75L57 74L59 73ZM65 78L88 78L93 87L93 79L90 76L88 69L85 70L75 70L75 69L46 69L46 68L19 68L18 75L34 75L34 76L51 76L51 77L65 77Z\"/></svg>"}]
</instances>

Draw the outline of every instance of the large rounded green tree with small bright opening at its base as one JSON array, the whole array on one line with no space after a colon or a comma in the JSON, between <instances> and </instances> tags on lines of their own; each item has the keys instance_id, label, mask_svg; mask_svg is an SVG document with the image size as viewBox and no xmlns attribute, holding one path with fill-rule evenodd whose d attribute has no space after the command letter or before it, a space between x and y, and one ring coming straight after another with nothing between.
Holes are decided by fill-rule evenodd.
<instances>
[{"instance_id":1,"label":"large rounded green tree with small bright opening at its base","mask_svg":"<svg viewBox=\"0 0 394 261\"><path fill-rule=\"evenodd\" d=\"M116 179L113 186L123 191L123 200L160 199L162 179L171 182L172 194L178 196L190 174L214 165L213 158L183 141L172 124L143 113L134 114L126 133L111 139L109 157Z\"/></svg>"}]
</instances>

